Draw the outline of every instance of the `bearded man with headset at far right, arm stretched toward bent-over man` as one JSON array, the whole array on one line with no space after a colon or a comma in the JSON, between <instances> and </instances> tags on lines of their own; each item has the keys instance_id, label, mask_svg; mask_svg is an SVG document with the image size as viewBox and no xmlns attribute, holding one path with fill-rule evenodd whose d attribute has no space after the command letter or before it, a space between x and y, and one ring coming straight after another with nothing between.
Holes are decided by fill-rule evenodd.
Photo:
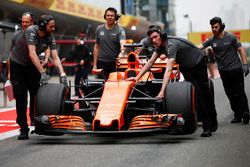
<instances>
[{"instance_id":1,"label":"bearded man with headset at far right, arm stretched toward bent-over man","mask_svg":"<svg viewBox=\"0 0 250 167\"><path fill-rule=\"evenodd\" d=\"M244 75L249 73L247 56L241 43L232 33L224 31L220 17L210 20L213 36L199 45L203 49L211 46L218 64L226 95L230 101L234 118L231 123L249 123L248 100L244 90ZM239 56L239 55L240 56Z\"/></svg>"}]
</instances>

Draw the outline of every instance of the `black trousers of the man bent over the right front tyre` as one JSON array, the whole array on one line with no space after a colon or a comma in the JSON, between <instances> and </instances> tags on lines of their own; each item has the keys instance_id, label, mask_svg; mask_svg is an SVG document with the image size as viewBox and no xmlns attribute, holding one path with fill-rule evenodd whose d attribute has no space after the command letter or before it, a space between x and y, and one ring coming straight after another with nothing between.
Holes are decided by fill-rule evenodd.
<instances>
[{"instance_id":1,"label":"black trousers of the man bent over the right front tyre","mask_svg":"<svg viewBox=\"0 0 250 167\"><path fill-rule=\"evenodd\" d=\"M186 81L191 82L196 91L197 114L203 124L203 129L217 125L217 113L214 98L209 88L207 66L204 61L194 68L181 68Z\"/></svg>"}]
</instances>

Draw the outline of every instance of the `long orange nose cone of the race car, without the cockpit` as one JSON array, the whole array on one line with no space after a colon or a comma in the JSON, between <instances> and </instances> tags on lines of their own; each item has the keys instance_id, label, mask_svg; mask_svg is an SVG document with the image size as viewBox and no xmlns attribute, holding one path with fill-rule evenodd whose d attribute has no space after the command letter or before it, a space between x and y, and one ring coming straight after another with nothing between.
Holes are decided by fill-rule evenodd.
<instances>
[{"instance_id":1,"label":"long orange nose cone of the race car, without the cockpit","mask_svg":"<svg viewBox=\"0 0 250 167\"><path fill-rule=\"evenodd\" d=\"M92 129L109 128L112 124L118 124L118 130L124 125L123 112L125 110L129 94L134 81L107 81L104 86L103 96L98 105L96 116L92 123Z\"/></svg>"}]
</instances>

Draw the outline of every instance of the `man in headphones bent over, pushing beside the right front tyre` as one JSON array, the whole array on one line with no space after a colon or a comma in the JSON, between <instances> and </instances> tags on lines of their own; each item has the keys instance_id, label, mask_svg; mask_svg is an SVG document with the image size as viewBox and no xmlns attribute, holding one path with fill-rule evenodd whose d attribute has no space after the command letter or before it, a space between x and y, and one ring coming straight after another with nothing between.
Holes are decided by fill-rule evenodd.
<instances>
[{"instance_id":1,"label":"man in headphones bent over, pushing beside the right front tyre","mask_svg":"<svg viewBox=\"0 0 250 167\"><path fill-rule=\"evenodd\" d=\"M196 88L199 104L198 115L203 123L201 136L210 137L212 135L211 132L216 131L218 125L214 102L208 87L207 67L205 61L203 61L202 52L191 42L178 37L167 37L166 33L161 33L157 28L149 29L147 35L156 47L156 51L141 72L135 78L130 78L129 80L137 82L152 67L159 55L167 55L168 62L163 83L157 96L158 98L164 98L164 91L169 83L172 67L177 62L184 78L190 81ZM210 115L213 115L213 122L210 121Z\"/></svg>"}]
</instances>

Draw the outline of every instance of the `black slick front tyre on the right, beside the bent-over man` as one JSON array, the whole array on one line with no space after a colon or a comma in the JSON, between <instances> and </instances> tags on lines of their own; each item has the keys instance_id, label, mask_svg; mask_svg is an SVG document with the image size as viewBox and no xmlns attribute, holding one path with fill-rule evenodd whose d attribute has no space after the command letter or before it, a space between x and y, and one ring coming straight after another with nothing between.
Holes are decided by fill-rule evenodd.
<instances>
[{"instance_id":1,"label":"black slick front tyre on the right, beside the bent-over man","mask_svg":"<svg viewBox=\"0 0 250 167\"><path fill-rule=\"evenodd\" d=\"M194 133L197 128L195 112L195 90L190 82L171 82L165 91L164 109L166 113L182 114L185 120L184 134Z\"/></svg>"}]
</instances>

